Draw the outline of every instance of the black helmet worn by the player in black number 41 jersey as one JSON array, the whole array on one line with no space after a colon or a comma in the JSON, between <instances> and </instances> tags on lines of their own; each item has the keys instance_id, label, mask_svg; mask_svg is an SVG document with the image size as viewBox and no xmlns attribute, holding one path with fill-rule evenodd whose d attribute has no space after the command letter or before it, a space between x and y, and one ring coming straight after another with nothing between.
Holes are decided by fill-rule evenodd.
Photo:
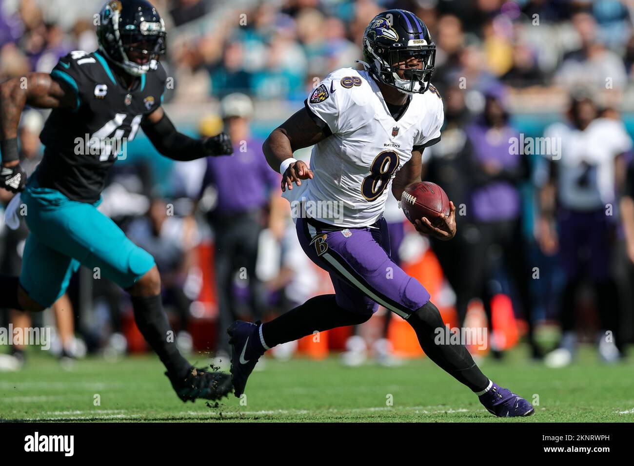
<instances>
[{"instance_id":1,"label":"black helmet worn by the player in black number 41 jersey","mask_svg":"<svg viewBox=\"0 0 634 466\"><path fill-rule=\"evenodd\" d=\"M110 0L97 26L100 50L133 76L146 74L165 54L165 22L146 0Z\"/></svg>"}]
</instances>

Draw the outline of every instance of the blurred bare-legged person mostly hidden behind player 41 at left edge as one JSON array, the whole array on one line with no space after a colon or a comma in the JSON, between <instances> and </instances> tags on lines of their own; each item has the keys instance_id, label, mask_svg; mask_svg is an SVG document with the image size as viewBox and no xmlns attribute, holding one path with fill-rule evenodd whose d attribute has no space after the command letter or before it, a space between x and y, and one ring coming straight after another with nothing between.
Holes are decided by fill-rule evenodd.
<instances>
[{"instance_id":1,"label":"blurred bare-legged person mostly hidden behind player 41 at left edge","mask_svg":"<svg viewBox=\"0 0 634 466\"><path fill-rule=\"evenodd\" d=\"M27 175L32 174L39 162L42 160L42 145L39 140L39 133L44 127L44 119L37 110L29 110L22 115L22 124L20 125L20 165ZM15 193L8 190L0 190L0 201L5 205L9 204ZM19 275L22 268L22 254L27 236L29 236L29 227L25 223L20 223L17 230L7 228L4 236L4 254L0 266L0 272L8 275ZM53 303L51 306L55 315L55 322L58 337L60 339L60 358L72 359L75 356L74 351L74 333L75 322L73 316L73 307L67 294ZM13 328L32 327L32 319L28 312L18 309L9 309L9 319L13 323ZM25 346L12 345L11 356L13 361L3 358L4 367L18 368L25 362Z\"/></svg>"}]
</instances>

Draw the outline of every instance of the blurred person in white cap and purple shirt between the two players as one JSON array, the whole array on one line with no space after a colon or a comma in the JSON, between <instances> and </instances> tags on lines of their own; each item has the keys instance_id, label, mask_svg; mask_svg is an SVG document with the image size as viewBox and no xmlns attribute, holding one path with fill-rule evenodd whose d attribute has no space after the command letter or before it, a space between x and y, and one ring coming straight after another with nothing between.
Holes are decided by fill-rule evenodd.
<instances>
[{"instance_id":1,"label":"blurred person in white cap and purple shirt between the two players","mask_svg":"<svg viewBox=\"0 0 634 466\"><path fill-rule=\"evenodd\" d=\"M218 298L217 357L228 358L226 328L240 317L234 294L236 275L246 280L249 292L249 318L260 320L266 306L264 285L256 273L257 254L266 210L271 197L279 194L279 177L271 172L262 141L251 136L253 103L249 96L229 94L220 103L225 131L233 141L233 157L208 157L201 197L211 188L216 204L207 213L214 232L214 269ZM202 134L205 136L205 134Z\"/></svg>"}]
</instances>

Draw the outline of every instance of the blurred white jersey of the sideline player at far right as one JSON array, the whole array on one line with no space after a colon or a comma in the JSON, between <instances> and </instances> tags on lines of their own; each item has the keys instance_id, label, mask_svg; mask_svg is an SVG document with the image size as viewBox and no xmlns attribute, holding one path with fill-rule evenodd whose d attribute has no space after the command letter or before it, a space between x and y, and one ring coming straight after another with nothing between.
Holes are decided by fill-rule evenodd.
<instances>
[{"instance_id":1,"label":"blurred white jersey of the sideline player at far right","mask_svg":"<svg viewBox=\"0 0 634 466\"><path fill-rule=\"evenodd\" d=\"M605 209L614 202L614 158L631 149L623 123L598 118L584 131L564 123L549 126L544 136L560 141L557 191L568 209Z\"/></svg>"}]
</instances>

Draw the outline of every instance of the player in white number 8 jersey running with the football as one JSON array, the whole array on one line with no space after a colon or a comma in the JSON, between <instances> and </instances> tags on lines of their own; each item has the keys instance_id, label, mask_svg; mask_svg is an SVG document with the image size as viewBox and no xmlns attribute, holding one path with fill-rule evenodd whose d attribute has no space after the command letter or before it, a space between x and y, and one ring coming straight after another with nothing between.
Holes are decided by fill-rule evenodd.
<instances>
[{"instance_id":1,"label":"player in white number 8 jersey running with the football","mask_svg":"<svg viewBox=\"0 0 634 466\"><path fill-rule=\"evenodd\" d=\"M425 354L474 391L491 413L534 413L525 399L485 377L464 346L436 339L445 328L438 309L423 285L391 259L382 216L387 190L399 199L408 184L420 181L422 151L440 139L443 101L430 83L435 56L436 46L417 16L380 13L363 36L365 70L329 74L305 107L264 143L269 165L282 174L284 196L292 207L302 205L295 223L302 249L330 273L335 294L313 297L268 323L231 325L236 396L267 349L316 330L358 325L380 304L406 319ZM311 167L292 158L307 146L313 146ZM340 209L330 215L328 205ZM443 221L436 228L423 218L416 228L450 240L456 232L453 204Z\"/></svg>"}]
</instances>

